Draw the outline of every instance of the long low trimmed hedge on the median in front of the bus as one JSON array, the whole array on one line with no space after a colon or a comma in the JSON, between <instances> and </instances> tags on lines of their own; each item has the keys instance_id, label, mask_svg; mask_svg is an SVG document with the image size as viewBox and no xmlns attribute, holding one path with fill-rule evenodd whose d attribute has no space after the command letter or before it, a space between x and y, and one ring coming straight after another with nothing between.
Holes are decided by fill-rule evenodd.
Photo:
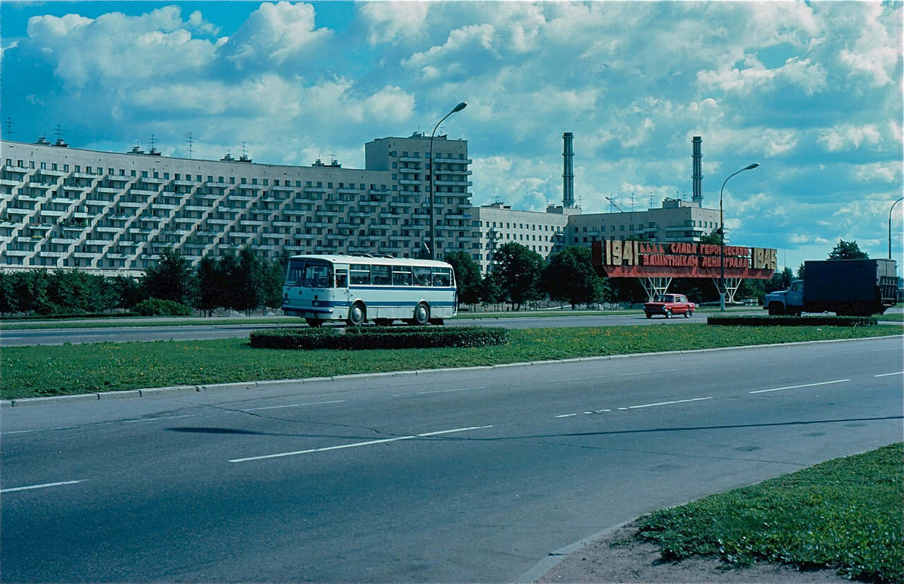
<instances>
[{"instance_id":1,"label":"long low trimmed hedge on the median in front of the bus","mask_svg":"<svg viewBox=\"0 0 904 584\"><path fill-rule=\"evenodd\" d=\"M254 331L252 347L262 349L425 349L484 347L508 343L508 330L477 326L363 326Z\"/></svg>"}]
</instances>

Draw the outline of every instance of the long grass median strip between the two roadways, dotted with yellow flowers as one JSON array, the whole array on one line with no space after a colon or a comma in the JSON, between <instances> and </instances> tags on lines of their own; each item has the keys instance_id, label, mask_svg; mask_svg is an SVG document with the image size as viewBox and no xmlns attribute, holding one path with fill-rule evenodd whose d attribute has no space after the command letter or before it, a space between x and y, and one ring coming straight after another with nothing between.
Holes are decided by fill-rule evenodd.
<instances>
[{"instance_id":1,"label":"long grass median strip between the two roadways, dotted with yellow flowers","mask_svg":"<svg viewBox=\"0 0 904 584\"><path fill-rule=\"evenodd\" d=\"M901 334L901 327L689 324L538 328L510 334L509 344L494 347L354 352L253 349L248 339L5 347L0 398L850 339Z\"/></svg>"}]
</instances>

